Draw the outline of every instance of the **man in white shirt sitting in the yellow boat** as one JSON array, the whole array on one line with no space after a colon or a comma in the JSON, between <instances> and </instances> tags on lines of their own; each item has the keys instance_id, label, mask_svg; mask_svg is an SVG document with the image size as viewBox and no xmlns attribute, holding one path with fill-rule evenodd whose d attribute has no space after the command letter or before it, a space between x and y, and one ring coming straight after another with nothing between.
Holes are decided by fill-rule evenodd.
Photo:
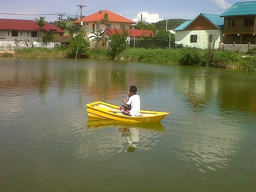
<instances>
[{"instance_id":1,"label":"man in white shirt sitting in the yellow boat","mask_svg":"<svg viewBox=\"0 0 256 192\"><path fill-rule=\"evenodd\" d=\"M132 85L130 86L130 92L127 92L129 95L128 101L123 99L124 105L120 107L120 110L124 115L129 116L139 116L140 114L140 95L137 95L137 87Z\"/></svg>"}]
</instances>

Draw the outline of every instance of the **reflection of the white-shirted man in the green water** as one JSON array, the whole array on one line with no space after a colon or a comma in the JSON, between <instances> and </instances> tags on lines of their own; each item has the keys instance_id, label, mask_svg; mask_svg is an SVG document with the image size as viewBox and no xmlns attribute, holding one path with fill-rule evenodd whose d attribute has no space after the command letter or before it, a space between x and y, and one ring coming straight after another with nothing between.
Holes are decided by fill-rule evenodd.
<instances>
[{"instance_id":1,"label":"reflection of the white-shirted man in the green water","mask_svg":"<svg viewBox=\"0 0 256 192\"><path fill-rule=\"evenodd\" d=\"M128 150L127 152L133 152L137 147L137 142L139 142L139 129L130 127L130 128L120 128L120 132L123 132L122 137L126 137L128 140Z\"/></svg>"}]
</instances>

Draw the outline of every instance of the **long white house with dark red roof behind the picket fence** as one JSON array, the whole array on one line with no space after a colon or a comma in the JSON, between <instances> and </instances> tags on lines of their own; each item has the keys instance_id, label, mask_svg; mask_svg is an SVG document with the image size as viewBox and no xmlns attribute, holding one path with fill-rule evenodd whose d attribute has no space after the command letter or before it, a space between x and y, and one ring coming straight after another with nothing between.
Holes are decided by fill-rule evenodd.
<instances>
[{"instance_id":1,"label":"long white house with dark red roof behind the picket fence","mask_svg":"<svg viewBox=\"0 0 256 192\"><path fill-rule=\"evenodd\" d=\"M0 19L0 41L29 40L38 41L39 25L33 20ZM64 31L56 25L47 23L42 27L47 32L62 36ZM40 39L39 39L40 40Z\"/></svg>"}]
</instances>

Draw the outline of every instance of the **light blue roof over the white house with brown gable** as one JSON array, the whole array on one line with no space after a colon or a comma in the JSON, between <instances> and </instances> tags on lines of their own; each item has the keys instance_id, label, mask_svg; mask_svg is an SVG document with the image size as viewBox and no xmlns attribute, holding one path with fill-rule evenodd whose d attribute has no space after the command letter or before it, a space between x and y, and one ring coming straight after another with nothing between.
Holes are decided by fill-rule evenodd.
<instances>
[{"instance_id":1,"label":"light blue roof over the white house with brown gable","mask_svg":"<svg viewBox=\"0 0 256 192\"><path fill-rule=\"evenodd\" d=\"M210 22L212 22L213 25L215 25L218 28L223 28L224 25L224 18L220 18L220 15L213 15L213 14L206 14L206 13L200 13L194 20L196 20L200 15L203 15L206 19L208 19ZM186 27L188 27L188 25L194 21L194 20L188 20L185 21L184 23L182 23L181 25L179 25L178 27L176 27L175 29L173 29L174 31L182 31L184 30Z\"/></svg>"}]
</instances>

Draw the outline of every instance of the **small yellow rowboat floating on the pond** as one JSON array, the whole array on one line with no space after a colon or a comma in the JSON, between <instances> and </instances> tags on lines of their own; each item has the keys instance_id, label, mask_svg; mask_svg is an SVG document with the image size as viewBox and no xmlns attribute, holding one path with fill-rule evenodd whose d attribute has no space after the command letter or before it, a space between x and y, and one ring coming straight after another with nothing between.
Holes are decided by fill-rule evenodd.
<instances>
[{"instance_id":1,"label":"small yellow rowboat floating on the pond","mask_svg":"<svg viewBox=\"0 0 256 192\"><path fill-rule=\"evenodd\" d=\"M159 122L169 113L161 111L140 110L139 116L123 115L118 106L108 104L102 101L96 101L86 104L89 117L112 119L117 121L142 123L142 122Z\"/></svg>"}]
</instances>

